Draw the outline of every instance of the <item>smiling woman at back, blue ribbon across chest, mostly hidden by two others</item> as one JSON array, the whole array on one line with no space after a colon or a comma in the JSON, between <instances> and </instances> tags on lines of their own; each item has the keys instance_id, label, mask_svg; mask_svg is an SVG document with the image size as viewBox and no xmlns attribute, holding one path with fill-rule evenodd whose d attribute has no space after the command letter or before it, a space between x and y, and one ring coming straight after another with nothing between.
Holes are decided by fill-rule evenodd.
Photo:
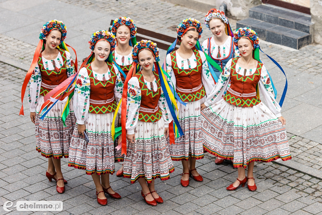
<instances>
[{"instance_id":1,"label":"smiling woman at back, blue ribbon across chest, mostly hidden by two others","mask_svg":"<svg viewBox=\"0 0 322 215\"><path fill-rule=\"evenodd\" d=\"M125 82L126 75L130 70L132 60L132 44L136 44L137 27L130 17L122 16L114 20L111 27L111 33L116 37L116 47L113 54L113 61L121 74L123 83ZM125 75L125 76L124 76ZM120 144L122 138L118 138ZM124 156L121 155L121 150L115 149L115 161L123 161ZM123 177L123 165L116 172L117 177Z\"/></svg>"}]
</instances>

